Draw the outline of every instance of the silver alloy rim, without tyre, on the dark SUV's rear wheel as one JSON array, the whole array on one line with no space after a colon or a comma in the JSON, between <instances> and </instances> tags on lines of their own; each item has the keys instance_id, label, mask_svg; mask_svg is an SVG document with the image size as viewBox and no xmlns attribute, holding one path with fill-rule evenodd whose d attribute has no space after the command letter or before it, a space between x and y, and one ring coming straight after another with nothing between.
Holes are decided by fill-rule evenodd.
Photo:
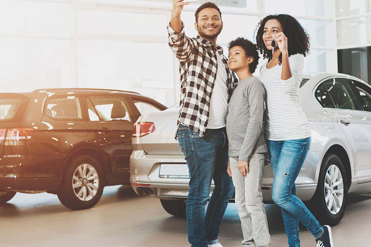
<instances>
[{"instance_id":1,"label":"silver alloy rim, without tyre, on the dark SUV's rear wheel","mask_svg":"<svg viewBox=\"0 0 371 247\"><path fill-rule=\"evenodd\" d=\"M76 168L72 188L75 196L81 201L89 201L95 197L99 188L99 176L91 164L84 163Z\"/></svg>"}]
</instances>

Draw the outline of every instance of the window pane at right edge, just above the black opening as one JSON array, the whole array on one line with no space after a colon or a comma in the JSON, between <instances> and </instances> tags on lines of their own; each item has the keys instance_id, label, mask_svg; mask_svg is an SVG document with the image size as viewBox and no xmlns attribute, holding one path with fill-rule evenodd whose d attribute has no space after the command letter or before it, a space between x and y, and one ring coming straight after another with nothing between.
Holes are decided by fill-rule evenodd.
<instances>
[{"instance_id":1,"label":"window pane at right edge, just above the black opening","mask_svg":"<svg viewBox=\"0 0 371 247\"><path fill-rule=\"evenodd\" d=\"M338 46L371 42L371 17L336 21Z\"/></svg>"}]
</instances>

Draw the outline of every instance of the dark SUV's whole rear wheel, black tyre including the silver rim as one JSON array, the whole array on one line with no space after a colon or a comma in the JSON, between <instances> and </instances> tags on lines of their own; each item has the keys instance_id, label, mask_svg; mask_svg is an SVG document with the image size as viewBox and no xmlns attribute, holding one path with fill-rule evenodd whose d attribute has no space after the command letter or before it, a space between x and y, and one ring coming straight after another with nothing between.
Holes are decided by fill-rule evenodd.
<instances>
[{"instance_id":1,"label":"dark SUV's whole rear wheel, black tyre including the silver rim","mask_svg":"<svg viewBox=\"0 0 371 247\"><path fill-rule=\"evenodd\" d=\"M104 174L98 161L92 156L81 155L66 167L57 195L64 206L81 210L98 203L103 187Z\"/></svg>"}]
</instances>

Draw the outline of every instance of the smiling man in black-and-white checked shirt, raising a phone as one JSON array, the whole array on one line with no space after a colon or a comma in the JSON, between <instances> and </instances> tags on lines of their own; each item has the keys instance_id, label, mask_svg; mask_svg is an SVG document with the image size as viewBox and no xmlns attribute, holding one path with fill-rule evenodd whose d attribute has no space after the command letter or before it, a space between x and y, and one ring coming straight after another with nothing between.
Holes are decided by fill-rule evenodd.
<instances>
[{"instance_id":1,"label":"smiling man in black-and-white checked shirt, raising a phone","mask_svg":"<svg viewBox=\"0 0 371 247\"><path fill-rule=\"evenodd\" d=\"M234 89L233 73L228 69L223 49L216 39L223 29L221 12L214 3L196 10L198 36L184 34L180 19L183 0L173 0L173 15L167 26L169 46L180 61L180 110L176 137L187 161L190 190L187 199L188 241L192 247L222 247L219 226L229 198L233 195L228 176L226 116ZM206 215L211 180L215 188Z\"/></svg>"}]
</instances>

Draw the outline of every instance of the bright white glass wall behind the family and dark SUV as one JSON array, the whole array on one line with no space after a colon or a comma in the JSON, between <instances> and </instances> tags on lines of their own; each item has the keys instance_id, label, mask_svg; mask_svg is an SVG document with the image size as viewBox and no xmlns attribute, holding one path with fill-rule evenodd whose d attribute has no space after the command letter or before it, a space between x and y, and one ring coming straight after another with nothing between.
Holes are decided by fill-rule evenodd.
<instances>
[{"instance_id":1,"label":"bright white glass wall behind the family and dark SUV","mask_svg":"<svg viewBox=\"0 0 371 247\"><path fill-rule=\"evenodd\" d=\"M197 35L194 11L205 1L184 7L182 20L188 36ZM311 37L304 73L337 71L335 17L331 16L335 6L331 1L214 2L223 13L224 29L218 44L226 55L230 40L239 36L253 40L257 23L264 16L288 13L298 18ZM369 3L363 0L358 7L353 3L352 13L369 13ZM2 0L0 90L121 89L137 91L171 106L179 100L178 62L167 44L171 9L171 0ZM336 16L342 17L338 13L344 12L336 6ZM369 28L370 17L361 19L359 31L344 20L340 35L346 36L351 29L359 33L359 39L370 42L370 36L361 35Z\"/></svg>"}]
</instances>

